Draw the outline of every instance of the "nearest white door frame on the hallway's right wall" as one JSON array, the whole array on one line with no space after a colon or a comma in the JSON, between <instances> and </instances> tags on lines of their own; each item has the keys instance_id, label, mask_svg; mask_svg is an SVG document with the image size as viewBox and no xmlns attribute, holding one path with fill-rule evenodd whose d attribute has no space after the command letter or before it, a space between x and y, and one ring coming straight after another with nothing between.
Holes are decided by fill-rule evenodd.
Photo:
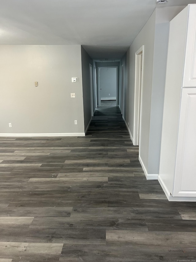
<instances>
[{"instance_id":1,"label":"nearest white door frame on the hallway's right wall","mask_svg":"<svg viewBox=\"0 0 196 262\"><path fill-rule=\"evenodd\" d=\"M141 126L141 95L143 88L144 45L135 53L135 87L134 87L134 134L133 144L139 146Z\"/></svg>"}]
</instances>

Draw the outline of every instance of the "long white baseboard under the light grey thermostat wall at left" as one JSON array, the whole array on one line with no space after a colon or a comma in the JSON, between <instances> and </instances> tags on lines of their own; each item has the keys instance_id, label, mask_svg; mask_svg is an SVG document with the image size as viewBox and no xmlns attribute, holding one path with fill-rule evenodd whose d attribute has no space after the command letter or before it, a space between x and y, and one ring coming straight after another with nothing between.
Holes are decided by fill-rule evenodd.
<instances>
[{"instance_id":1,"label":"long white baseboard under the light grey thermostat wall at left","mask_svg":"<svg viewBox=\"0 0 196 262\"><path fill-rule=\"evenodd\" d=\"M85 136L85 133L0 133L0 137Z\"/></svg>"}]
</instances>

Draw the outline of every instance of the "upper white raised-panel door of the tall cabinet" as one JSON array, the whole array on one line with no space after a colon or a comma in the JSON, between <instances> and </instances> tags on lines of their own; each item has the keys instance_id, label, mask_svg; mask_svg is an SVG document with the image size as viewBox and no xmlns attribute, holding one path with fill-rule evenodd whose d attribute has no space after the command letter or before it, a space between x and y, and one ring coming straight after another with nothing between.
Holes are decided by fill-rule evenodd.
<instances>
[{"instance_id":1,"label":"upper white raised-panel door of the tall cabinet","mask_svg":"<svg viewBox=\"0 0 196 262\"><path fill-rule=\"evenodd\" d=\"M189 6L183 87L196 86L196 4Z\"/></svg>"}]
</instances>

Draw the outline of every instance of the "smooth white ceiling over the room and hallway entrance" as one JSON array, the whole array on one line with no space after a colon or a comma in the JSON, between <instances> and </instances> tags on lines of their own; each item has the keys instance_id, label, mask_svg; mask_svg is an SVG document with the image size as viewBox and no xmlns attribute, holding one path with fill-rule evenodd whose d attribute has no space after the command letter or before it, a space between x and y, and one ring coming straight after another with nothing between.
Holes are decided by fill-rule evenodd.
<instances>
[{"instance_id":1,"label":"smooth white ceiling over the room and hallway entrance","mask_svg":"<svg viewBox=\"0 0 196 262\"><path fill-rule=\"evenodd\" d=\"M169 0L183 6L196 0ZM94 59L119 59L156 0L0 0L1 45L83 45Z\"/></svg>"}]
</instances>

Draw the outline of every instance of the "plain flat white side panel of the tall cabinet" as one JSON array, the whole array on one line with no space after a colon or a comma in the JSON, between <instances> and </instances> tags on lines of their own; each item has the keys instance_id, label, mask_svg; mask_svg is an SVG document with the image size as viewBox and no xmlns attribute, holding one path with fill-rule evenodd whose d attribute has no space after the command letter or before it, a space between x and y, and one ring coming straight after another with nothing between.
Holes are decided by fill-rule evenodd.
<instances>
[{"instance_id":1,"label":"plain flat white side panel of the tall cabinet","mask_svg":"<svg viewBox=\"0 0 196 262\"><path fill-rule=\"evenodd\" d=\"M172 20L170 26L159 170L159 179L164 183L168 194L173 191L187 13L188 7Z\"/></svg>"}]
</instances>

